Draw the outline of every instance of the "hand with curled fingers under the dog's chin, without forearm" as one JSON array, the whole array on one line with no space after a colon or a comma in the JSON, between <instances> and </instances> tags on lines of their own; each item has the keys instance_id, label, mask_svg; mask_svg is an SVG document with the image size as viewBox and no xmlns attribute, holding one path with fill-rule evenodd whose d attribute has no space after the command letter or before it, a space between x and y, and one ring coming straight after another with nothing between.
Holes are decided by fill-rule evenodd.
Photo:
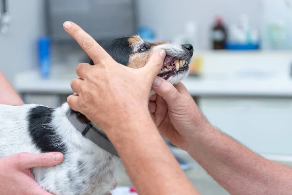
<instances>
[{"instance_id":1,"label":"hand with curled fingers under the dog's chin, without forearm","mask_svg":"<svg viewBox=\"0 0 292 195\"><path fill-rule=\"evenodd\" d=\"M173 86L157 77L152 89L156 94L150 98L149 111L156 126L174 145L187 150L195 133L200 133L210 123L182 83Z\"/></svg>"}]
</instances>

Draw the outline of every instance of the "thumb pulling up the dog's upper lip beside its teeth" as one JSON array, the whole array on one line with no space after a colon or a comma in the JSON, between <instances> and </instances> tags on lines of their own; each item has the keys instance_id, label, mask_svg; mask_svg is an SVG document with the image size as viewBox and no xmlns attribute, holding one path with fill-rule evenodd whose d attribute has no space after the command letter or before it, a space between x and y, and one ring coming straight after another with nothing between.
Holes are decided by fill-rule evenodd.
<instances>
[{"instance_id":1,"label":"thumb pulling up the dog's upper lip beside its teeth","mask_svg":"<svg viewBox=\"0 0 292 195\"><path fill-rule=\"evenodd\" d=\"M145 76L148 77L149 82L152 83L154 78L160 72L165 56L166 56L165 50L159 49L159 50L155 51L151 55L151 57L148 60L148 62L146 63L146 65L142 68L145 71L145 73L146 73Z\"/></svg>"}]
</instances>

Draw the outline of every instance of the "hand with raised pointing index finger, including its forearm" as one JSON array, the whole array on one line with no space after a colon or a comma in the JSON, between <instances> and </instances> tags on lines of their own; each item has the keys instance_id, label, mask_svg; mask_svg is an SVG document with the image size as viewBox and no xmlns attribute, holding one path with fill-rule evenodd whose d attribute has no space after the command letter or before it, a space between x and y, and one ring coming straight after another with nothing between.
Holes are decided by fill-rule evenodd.
<instances>
[{"instance_id":1,"label":"hand with raised pointing index finger, including its forearm","mask_svg":"<svg viewBox=\"0 0 292 195\"><path fill-rule=\"evenodd\" d=\"M130 69L115 62L73 22L65 22L64 29L95 63L77 66L80 78L71 86L78 96L70 96L67 102L109 136L138 194L198 195L170 154L147 107L165 51L154 52L144 68Z\"/></svg>"}]
</instances>

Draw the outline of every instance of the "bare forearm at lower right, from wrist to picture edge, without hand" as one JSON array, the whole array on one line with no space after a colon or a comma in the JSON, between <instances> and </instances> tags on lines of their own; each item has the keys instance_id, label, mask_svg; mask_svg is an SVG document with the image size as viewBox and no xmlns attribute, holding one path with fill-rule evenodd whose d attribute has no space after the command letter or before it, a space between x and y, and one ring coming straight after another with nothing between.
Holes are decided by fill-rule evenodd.
<instances>
[{"instance_id":1,"label":"bare forearm at lower right, from wrist to picture edge, without hand","mask_svg":"<svg viewBox=\"0 0 292 195\"><path fill-rule=\"evenodd\" d=\"M187 152L232 195L290 195L292 168L269 161L211 125Z\"/></svg>"}]
</instances>

